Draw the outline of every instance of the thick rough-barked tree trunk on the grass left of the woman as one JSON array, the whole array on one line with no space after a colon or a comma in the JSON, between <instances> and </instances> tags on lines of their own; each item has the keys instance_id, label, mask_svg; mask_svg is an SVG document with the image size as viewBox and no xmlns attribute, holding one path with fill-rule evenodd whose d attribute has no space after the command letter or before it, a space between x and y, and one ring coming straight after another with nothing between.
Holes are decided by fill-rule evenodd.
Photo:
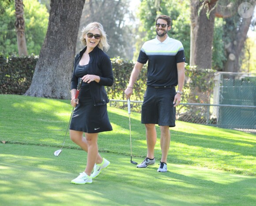
<instances>
[{"instance_id":1,"label":"thick rough-barked tree trunk on the grass left of the woman","mask_svg":"<svg viewBox=\"0 0 256 206\"><path fill-rule=\"evenodd\" d=\"M76 39L85 0L51 0L48 30L25 95L70 98Z\"/></svg>"}]
</instances>

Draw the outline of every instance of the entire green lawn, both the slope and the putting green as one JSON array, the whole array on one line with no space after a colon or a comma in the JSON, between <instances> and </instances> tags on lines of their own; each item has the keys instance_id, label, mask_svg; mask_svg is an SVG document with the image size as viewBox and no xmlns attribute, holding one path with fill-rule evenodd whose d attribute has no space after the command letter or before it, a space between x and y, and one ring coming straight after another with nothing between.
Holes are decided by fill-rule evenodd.
<instances>
[{"instance_id":1,"label":"entire green lawn, both the slope and the putting green","mask_svg":"<svg viewBox=\"0 0 256 206\"><path fill-rule=\"evenodd\" d=\"M68 100L0 95L0 205L255 205L256 135L177 121L168 172L130 163L129 119L108 107L113 131L99 150L111 165L93 184L74 185L86 153L68 137ZM132 112L132 160L147 154L140 114ZM158 137L160 136L157 127ZM158 139L156 160L161 158Z\"/></svg>"}]
</instances>

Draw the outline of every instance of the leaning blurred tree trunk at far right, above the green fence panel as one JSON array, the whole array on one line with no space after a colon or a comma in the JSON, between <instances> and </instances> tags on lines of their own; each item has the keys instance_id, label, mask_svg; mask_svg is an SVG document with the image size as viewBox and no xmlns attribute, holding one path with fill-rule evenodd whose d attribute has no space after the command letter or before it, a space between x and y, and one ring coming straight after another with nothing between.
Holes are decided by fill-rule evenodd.
<instances>
[{"instance_id":1,"label":"leaning blurred tree trunk at far right, above the green fence panel","mask_svg":"<svg viewBox=\"0 0 256 206\"><path fill-rule=\"evenodd\" d=\"M253 8L255 7L256 1L252 2ZM252 16L249 18L241 18L241 24L239 29L237 30L237 34L235 39L225 45L225 49L227 52L228 59L226 61L224 71L229 72L239 72L241 65L239 64L239 57L241 56L241 51L245 46L246 35L248 33L248 29L250 27L252 20Z\"/></svg>"}]
</instances>

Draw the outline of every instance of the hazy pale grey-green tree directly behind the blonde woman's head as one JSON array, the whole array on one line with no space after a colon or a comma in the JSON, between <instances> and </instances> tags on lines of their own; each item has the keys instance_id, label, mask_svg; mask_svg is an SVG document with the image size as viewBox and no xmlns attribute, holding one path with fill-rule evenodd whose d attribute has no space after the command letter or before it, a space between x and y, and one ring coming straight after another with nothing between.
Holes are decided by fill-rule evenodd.
<instances>
[{"instance_id":1,"label":"hazy pale grey-green tree directly behind the blonde woman's head","mask_svg":"<svg viewBox=\"0 0 256 206\"><path fill-rule=\"evenodd\" d=\"M110 49L107 54L111 58L120 56L132 59L135 34L131 32L130 26L125 21L134 17L128 10L128 3L129 0L88 0L83 7L79 31L90 22L100 22L108 35ZM83 48L79 37L80 32L76 52Z\"/></svg>"}]
</instances>

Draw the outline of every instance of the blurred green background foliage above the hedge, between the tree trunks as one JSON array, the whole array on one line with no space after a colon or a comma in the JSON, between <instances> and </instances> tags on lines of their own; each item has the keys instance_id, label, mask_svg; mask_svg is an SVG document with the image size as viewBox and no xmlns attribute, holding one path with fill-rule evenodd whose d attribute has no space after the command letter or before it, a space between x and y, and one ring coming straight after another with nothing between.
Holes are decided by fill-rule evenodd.
<instances>
[{"instance_id":1,"label":"blurred green background foliage above the hedge, between the tree trunks","mask_svg":"<svg viewBox=\"0 0 256 206\"><path fill-rule=\"evenodd\" d=\"M9 2L9 6L6 5ZM50 0L24 0L25 35L28 53L39 55L44 41L50 9ZM129 10L130 0L91 0L86 1L81 16L80 30L91 21L99 21L103 24L109 37L111 58L120 56L127 60L137 60L139 50L145 41L155 38L154 20L159 14L170 15L173 19L169 37L182 42L189 64L190 58L190 0L141 0L137 10L137 16ZM219 1L222 8L226 8L229 1ZM104 6L104 10L102 10ZM0 2L0 55L16 55L17 40L14 28L15 8L14 0ZM237 11L237 10L235 10ZM234 40L239 29L241 19L237 12L228 18L215 18L215 30L213 41L212 68L223 71L228 55L225 46ZM251 30L255 30L255 18L251 24ZM80 33L78 34L80 36ZM77 41L76 52L82 48ZM246 41L245 49L241 56L241 71L256 72L253 62L254 39Z\"/></svg>"}]
</instances>

